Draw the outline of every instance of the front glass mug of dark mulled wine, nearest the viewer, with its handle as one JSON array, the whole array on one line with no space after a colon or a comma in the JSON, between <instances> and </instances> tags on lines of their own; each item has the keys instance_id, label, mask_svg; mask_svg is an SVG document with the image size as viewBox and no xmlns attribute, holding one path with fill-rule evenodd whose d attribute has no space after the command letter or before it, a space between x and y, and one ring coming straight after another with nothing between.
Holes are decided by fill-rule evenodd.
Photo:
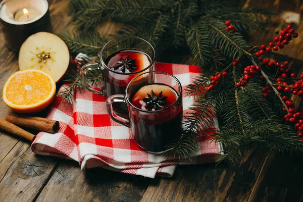
<instances>
[{"instance_id":1,"label":"front glass mug of dark mulled wine, nearest the viewer, with its handle","mask_svg":"<svg viewBox=\"0 0 303 202\"><path fill-rule=\"evenodd\" d=\"M116 103L127 104L129 119L114 115ZM107 99L107 110L114 121L130 127L137 144L150 153L162 153L182 134L182 86L166 72L145 72L135 77L124 94Z\"/></svg>"}]
</instances>

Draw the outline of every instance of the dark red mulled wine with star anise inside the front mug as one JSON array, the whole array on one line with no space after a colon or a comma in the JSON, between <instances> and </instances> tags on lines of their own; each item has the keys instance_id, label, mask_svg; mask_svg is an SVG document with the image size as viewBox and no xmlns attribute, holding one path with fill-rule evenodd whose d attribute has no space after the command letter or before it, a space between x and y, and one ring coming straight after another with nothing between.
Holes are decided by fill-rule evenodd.
<instances>
[{"instance_id":1,"label":"dark red mulled wine with star anise inside the front mug","mask_svg":"<svg viewBox=\"0 0 303 202\"><path fill-rule=\"evenodd\" d=\"M163 83L144 85L134 92L131 104L141 110L130 113L134 138L148 151L163 151L182 133L182 97Z\"/></svg>"}]
</instances>

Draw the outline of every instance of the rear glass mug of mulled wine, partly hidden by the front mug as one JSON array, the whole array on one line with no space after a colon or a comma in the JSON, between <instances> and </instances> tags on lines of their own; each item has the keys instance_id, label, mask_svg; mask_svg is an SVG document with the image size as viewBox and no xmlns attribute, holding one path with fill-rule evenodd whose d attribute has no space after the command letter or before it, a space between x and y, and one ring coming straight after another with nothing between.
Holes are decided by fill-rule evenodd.
<instances>
[{"instance_id":1,"label":"rear glass mug of mulled wine, partly hidden by the front mug","mask_svg":"<svg viewBox=\"0 0 303 202\"><path fill-rule=\"evenodd\" d=\"M84 88L107 99L114 94L123 94L133 78L154 69L154 47L144 39L127 36L106 43L100 51L99 62L84 65L80 75ZM88 81L87 75L90 75L88 78L101 75L102 82ZM116 115L128 117L126 104L115 103L113 109Z\"/></svg>"}]
</instances>

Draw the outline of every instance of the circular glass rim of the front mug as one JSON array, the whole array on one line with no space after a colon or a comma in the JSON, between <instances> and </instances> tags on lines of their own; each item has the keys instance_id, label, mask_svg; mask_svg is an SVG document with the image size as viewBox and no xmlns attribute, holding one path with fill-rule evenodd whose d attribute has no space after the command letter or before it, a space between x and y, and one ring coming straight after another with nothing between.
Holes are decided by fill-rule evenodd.
<instances>
[{"instance_id":1,"label":"circular glass rim of the front mug","mask_svg":"<svg viewBox=\"0 0 303 202\"><path fill-rule=\"evenodd\" d=\"M142 109L139 109L139 108L135 107L135 106L130 102L130 100L129 100L128 96L127 96L127 91L128 91L129 86L130 86L131 83L132 83L136 78L138 78L139 76L141 76L141 75L143 75L143 74L149 74L149 73L161 73L161 74L166 74L166 75L168 75L168 76L173 77L173 78L177 81L177 83L178 83L178 85L179 85L179 88L180 88L180 92L179 92L179 94L178 94L177 99L175 100L175 102L174 102L173 104L171 104L169 107L164 108L164 109L162 109L162 110L147 111L147 110L142 110ZM145 113L159 113L159 112L164 112L164 111L166 111L166 110L168 110L168 109L174 107L174 106L178 103L179 98L180 98L180 97L182 98L182 85L181 85L180 81L177 79L177 77L175 77L174 75L172 75L172 74L170 74L170 73L167 73L167 72L163 72L163 71L150 71L150 72L145 72L145 73L143 73L143 74L140 74L140 75L136 76L135 78L133 78L133 79L129 82L129 84L127 85L127 87L126 87L126 89L125 89L124 96L125 96L125 98L126 98L126 100L127 100L127 103L128 103L132 108L134 108L134 109L136 109L136 110L138 110L138 111L140 111L140 112L145 112ZM171 87L171 86L170 86L170 87Z\"/></svg>"}]
</instances>

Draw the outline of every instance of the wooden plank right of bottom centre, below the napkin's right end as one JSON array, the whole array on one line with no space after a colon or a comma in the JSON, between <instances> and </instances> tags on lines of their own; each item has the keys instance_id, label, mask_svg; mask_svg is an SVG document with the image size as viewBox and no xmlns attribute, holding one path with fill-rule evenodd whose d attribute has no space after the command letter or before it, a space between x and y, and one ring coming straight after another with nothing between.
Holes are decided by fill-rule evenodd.
<instances>
[{"instance_id":1,"label":"wooden plank right of bottom centre, below the napkin's right end","mask_svg":"<svg viewBox=\"0 0 303 202\"><path fill-rule=\"evenodd\" d=\"M246 201L265 157L250 149L238 164L179 166L172 179L151 184L141 201Z\"/></svg>"}]
</instances>

